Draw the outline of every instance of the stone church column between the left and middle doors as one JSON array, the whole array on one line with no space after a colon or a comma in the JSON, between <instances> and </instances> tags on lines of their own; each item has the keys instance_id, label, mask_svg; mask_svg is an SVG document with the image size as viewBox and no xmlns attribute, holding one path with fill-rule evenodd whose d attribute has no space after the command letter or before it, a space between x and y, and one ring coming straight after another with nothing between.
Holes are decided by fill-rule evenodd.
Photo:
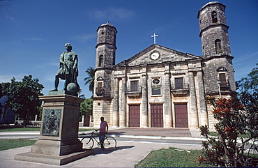
<instances>
[{"instance_id":1,"label":"stone church column between the left and middle doors","mask_svg":"<svg viewBox=\"0 0 258 168\"><path fill-rule=\"evenodd\" d=\"M148 117L148 82L146 67L142 68L142 121L141 125L144 128L149 127Z\"/></svg>"}]
</instances>

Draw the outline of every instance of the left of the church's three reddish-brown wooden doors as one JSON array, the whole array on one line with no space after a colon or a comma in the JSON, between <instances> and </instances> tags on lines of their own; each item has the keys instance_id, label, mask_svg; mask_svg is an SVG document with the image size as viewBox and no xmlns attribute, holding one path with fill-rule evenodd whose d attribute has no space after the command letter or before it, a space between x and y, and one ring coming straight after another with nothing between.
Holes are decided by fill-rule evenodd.
<instances>
[{"instance_id":1,"label":"left of the church's three reddish-brown wooden doors","mask_svg":"<svg viewBox=\"0 0 258 168\"><path fill-rule=\"evenodd\" d=\"M129 127L139 127L139 105L129 105Z\"/></svg>"}]
</instances>

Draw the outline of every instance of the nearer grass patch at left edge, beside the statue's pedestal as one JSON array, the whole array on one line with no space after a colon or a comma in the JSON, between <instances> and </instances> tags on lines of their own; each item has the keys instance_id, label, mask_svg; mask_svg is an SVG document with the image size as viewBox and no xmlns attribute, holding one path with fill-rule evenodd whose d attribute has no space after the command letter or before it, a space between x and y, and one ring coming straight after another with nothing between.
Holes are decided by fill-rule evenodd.
<instances>
[{"instance_id":1,"label":"nearer grass patch at left edge, beside the statue's pedestal","mask_svg":"<svg viewBox=\"0 0 258 168\"><path fill-rule=\"evenodd\" d=\"M30 139L0 139L0 151L11 148L20 148L23 146L30 146L35 144L37 140Z\"/></svg>"}]
</instances>

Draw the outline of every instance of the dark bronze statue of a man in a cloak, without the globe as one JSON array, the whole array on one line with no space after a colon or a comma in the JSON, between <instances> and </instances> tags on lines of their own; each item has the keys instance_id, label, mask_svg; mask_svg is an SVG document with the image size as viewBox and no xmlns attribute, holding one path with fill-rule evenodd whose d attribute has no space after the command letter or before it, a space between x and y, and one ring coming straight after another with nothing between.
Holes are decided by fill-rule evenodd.
<instances>
[{"instance_id":1,"label":"dark bronze statue of a man in a cloak, without the globe","mask_svg":"<svg viewBox=\"0 0 258 168\"><path fill-rule=\"evenodd\" d=\"M60 55L59 62L60 68L56 72L56 79L54 81L54 90L58 91L59 86L59 78L64 79L64 91L67 91L67 85L71 82L77 84L77 76L78 76L78 57L75 52L72 52L72 45L66 43L65 45L67 52L63 52Z\"/></svg>"}]
</instances>

